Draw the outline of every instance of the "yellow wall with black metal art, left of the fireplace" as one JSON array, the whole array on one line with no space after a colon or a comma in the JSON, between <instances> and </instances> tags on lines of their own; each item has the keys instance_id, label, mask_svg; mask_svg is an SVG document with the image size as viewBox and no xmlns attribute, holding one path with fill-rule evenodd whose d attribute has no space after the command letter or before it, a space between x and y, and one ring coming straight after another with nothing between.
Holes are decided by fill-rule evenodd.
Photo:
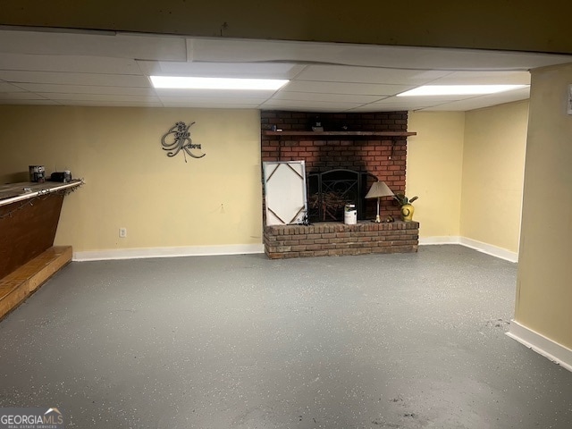
<instances>
[{"instance_id":1,"label":"yellow wall with black metal art, left of the fireplace","mask_svg":"<svg viewBox=\"0 0 572 429\"><path fill-rule=\"evenodd\" d=\"M178 121L197 122L204 158L166 156ZM259 244L259 123L254 110L0 106L0 181L26 180L29 164L84 178L55 239L74 251Z\"/></svg>"}]
</instances>

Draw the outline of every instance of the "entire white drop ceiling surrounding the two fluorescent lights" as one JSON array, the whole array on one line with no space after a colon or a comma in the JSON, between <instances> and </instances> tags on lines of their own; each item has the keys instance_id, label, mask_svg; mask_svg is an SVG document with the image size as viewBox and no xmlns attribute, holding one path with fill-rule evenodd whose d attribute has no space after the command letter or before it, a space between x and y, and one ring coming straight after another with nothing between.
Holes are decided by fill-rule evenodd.
<instances>
[{"instance_id":1,"label":"entire white drop ceiling surrounding the two fluorescent lights","mask_svg":"<svg viewBox=\"0 0 572 429\"><path fill-rule=\"evenodd\" d=\"M528 89L486 97L394 96L424 84L527 84L527 70L556 63L572 63L572 56L0 27L4 103L57 97L63 105L471 110L526 98ZM154 89L147 78L190 73L290 83L278 91L214 92Z\"/></svg>"}]
</instances>

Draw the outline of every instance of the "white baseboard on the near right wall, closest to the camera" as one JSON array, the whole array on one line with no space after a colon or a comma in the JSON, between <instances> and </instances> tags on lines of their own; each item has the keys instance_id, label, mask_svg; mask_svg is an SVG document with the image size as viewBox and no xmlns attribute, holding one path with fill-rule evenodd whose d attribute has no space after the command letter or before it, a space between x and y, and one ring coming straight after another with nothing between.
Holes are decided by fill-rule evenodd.
<instances>
[{"instance_id":1,"label":"white baseboard on the near right wall, closest to the camera","mask_svg":"<svg viewBox=\"0 0 572 429\"><path fill-rule=\"evenodd\" d=\"M535 332L514 320L510 321L510 330L507 335L524 344L527 348L533 349L539 355L549 358L568 371L572 371L572 349L568 349L568 347L552 341L543 334Z\"/></svg>"}]
</instances>

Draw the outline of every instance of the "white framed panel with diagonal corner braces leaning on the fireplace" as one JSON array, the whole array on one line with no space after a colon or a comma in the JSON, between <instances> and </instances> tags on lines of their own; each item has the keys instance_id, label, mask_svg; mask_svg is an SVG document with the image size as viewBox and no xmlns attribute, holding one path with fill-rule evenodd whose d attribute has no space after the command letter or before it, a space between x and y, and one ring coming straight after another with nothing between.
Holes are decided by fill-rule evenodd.
<instances>
[{"instance_id":1,"label":"white framed panel with diagonal corner braces leaning on the fireplace","mask_svg":"<svg viewBox=\"0 0 572 429\"><path fill-rule=\"evenodd\" d=\"M263 163L266 225L303 223L307 213L304 161Z\"/></svg>"}]
</instances>

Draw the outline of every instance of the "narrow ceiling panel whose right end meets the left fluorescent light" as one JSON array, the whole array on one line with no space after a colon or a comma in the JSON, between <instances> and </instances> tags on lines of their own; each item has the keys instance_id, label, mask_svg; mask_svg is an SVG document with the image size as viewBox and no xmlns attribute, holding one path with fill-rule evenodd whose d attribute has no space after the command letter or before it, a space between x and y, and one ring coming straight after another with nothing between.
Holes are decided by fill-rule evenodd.
<instances>
[{"instance_id":1,"label":"narrow ceiling panel whose right end meets the left fluorescent light","mask_svg":"<svg viewBox=\"0 0 572 429\"><path fill-rule=\"evenodd\" d=\"M10 82L97 85L110 87L150 87L144 76L126 74L63 73L57 71L0 71L0 79Z\"/></svg>"}]
</instances>

